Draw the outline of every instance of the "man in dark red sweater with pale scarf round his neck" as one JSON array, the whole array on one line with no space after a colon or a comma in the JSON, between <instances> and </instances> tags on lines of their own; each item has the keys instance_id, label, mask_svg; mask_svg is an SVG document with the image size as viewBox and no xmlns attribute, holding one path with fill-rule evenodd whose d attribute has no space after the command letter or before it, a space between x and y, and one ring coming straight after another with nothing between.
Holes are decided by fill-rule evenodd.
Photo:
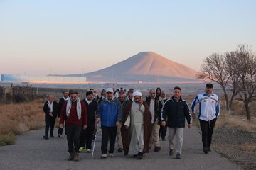
<instances>
[{"instance_id":1,"label":"man in dark red sweater with pale scarf round his neck","mask_svg":"<svg viewBox=\"0 0 256 170\"><path fill-rule=\"evenodd\" d=\"M70 92L70 99L63 106L60 113L60 128L63 128L64 119L66 119L68 152L70 153L68 160L79 161L80 132L82 127L87 128L87 110L76 91Z\"/></svg>"}]
</instances>

